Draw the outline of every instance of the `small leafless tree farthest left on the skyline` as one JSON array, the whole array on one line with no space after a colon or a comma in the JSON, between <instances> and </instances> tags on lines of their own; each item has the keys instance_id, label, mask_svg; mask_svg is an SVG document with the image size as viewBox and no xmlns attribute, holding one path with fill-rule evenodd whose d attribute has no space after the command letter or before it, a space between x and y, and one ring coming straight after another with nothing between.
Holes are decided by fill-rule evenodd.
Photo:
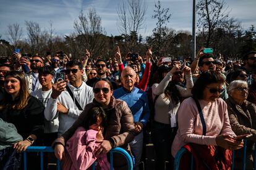
<instances>
[{"instance_id":1,"label":"small leafless tree farthest left on the skyline","mask_svg":"<svg viewBox=\"0 0 256 170\"><path fill-rule=\"evenodd\" d=\"M17 47L18 41L22 37L22 27L20 27L18 23L8 25L8 33L9 33L9 41L11 41L11 44Z\"/></svg>"}]
</instances>

